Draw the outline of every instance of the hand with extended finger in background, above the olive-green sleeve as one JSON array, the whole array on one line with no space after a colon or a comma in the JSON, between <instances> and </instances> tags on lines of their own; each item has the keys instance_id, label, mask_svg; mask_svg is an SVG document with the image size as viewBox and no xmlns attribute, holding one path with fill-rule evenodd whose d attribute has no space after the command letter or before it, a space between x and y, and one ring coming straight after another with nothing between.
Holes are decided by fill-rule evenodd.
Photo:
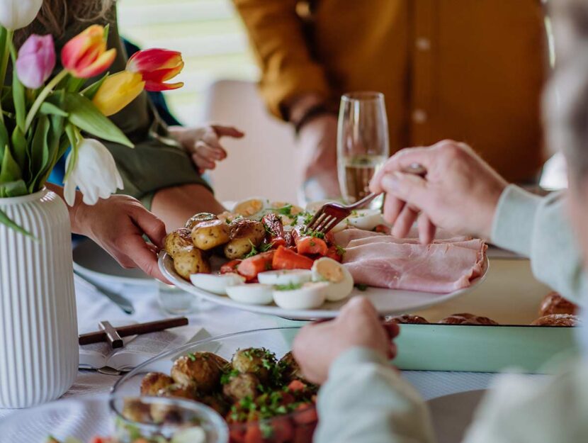
<instances>
[{"instance_id":1,"label":"hand with extended finger in background, above the olive-green sleeve","mask_svg":"<svg viewBox=\"0 0 588 443\"><path fill-rule=\"evenodd\" d=\"M205 169L215 169L216 162L227 157L220 144L221 137L242 138L242 133L232 126L208 125L203 128L170 126L169 133L191 154L192 161L202 174Z\"/></svg>"}]
</instances>

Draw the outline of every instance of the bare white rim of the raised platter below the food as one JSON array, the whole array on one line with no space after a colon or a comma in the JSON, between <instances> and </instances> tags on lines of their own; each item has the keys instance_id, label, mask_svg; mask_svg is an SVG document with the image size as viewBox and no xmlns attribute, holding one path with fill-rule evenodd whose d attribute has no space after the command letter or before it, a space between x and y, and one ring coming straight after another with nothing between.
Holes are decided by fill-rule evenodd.
<instances>
[{"instance_id":1,"label":"bare white rim of the raised platter below the food","mask_svg":"<svg viewBox=\"0 0 588 443\"><path fill-rule=\"evenodd\" d=\"M383 289L383 288L367 288L366 291L359 291L357 288L351 293L351 296L367 296L371 299L375 308L381 315L395 315L409 313L414 310L422 310L429 308L433 305L439 305L445 301L456 298L463 293L471 291L475 286L480 284L487 275L488 271L488 260L486 259L484 264L484 271L482 276L475 279L469 288L460 289L447 294L429 293L429 292L414 292L414 291L398 291L396 289ZM249 310L251 312L278 315L279 317L290 318L292 320L315 320L318 318L333 318L337 316L339 309L342 305L349 301L346 298L343 301L327 302L321 306L320 309L314 310L288 310L282 309L278 306L271 305L246 305L232 300L227 296L217 296L211 292L203 291L202 289L196 288L193 284L188 283L179 276L174 270L174 263L171 261L166 252L159 254L159 269L162 270L163 274L179 288L186 292L193 293L196 296L205 298L206 300L218 303L220 305L230 306L231 308L238 308L243 310Z\"/></svg>"}]
</instances>

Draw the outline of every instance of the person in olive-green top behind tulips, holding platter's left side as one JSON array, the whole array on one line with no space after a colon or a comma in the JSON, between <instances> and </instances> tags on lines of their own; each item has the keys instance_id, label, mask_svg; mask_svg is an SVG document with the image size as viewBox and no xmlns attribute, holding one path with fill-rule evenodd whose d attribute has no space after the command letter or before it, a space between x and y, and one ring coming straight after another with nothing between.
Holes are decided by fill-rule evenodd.
<instances>
[{"instance_id":1,"label":"person in olive-green top behind tulips, holding platter's left side","mask_svg":"<svg viewBox=\"0 0 588 443\"><path fill-rule=\"evenodd\" d=\"M43 0L35 21L17 31L15 43L20 45L31 33L50 33L59 54L69 38L92 23L111 25L108 47L117 50L111 71L123 70L127 57L118 35L113 0ZM122 192L129 195L100 199L89 206L78 193L74 206L68 207L72 232L90 237L123 267L140 267L164 279L157 267L156 249L162 247L166 226L168 230L179 227L194 213L224 211L200 172L213 169L215 162L226 157L220 144L222 136L240 138L243 134L222 125L167 127L145 91L111 118L135 143L135 149L128 149L105 142L123 177ZM60 186L47 184L47 188L63 196ZM151 243L145 242L143 235Z\"/></svg>"}]
</instances>

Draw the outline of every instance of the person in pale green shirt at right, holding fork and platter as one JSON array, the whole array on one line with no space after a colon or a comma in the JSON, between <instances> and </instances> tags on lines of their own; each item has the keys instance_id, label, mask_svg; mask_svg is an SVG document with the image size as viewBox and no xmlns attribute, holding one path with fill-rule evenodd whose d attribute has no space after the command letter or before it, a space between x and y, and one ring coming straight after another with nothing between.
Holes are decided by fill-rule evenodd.
<instances>
[{"instance_id":1,"label":"person in pale green shirt at right, holding fork and platter","mask_svg":"<svg viewBox=\"0 0 588 443\"><path fill-rule=\"evenodd\" d=\"M568 165L569 190L539 198L507 184L462 143L404 150L375 176L387 193L385 218L404 235L419 218L421 239L436 228L489 238L531 256L538 279L586 307L588 285L588 4L560 0L554 13L565 46L545 94L546 136ZM565 38L565 39L563 39ZM426 179L402 174L419 162ZM569 207L569 214L567 211ZM584 358L545 381L499 376L475 413L465 443L577 443L588 438L588 315L577 328ZM397 331L395 331L397 333ZM293 352L303 374L324 383L316 443L434 442L428 410L386 357L390 337L366 299L352 299L337 320L303 328ZM325 383L326 381L326 383Z\"/></svg>"}]
</instances>

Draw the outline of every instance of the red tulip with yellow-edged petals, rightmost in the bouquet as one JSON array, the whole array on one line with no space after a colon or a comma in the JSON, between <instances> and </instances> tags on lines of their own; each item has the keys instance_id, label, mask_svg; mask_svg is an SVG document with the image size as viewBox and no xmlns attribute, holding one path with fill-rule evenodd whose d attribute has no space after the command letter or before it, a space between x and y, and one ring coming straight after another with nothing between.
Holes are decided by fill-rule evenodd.
<instances>
[{"instance_id":1,"label":"red tulip with yellow-edged petals, rightmost in the bouquet","mask_svg":"<svg viewBox=\"0 0 588 443\"><path fill-rule=\"evenodd\" d=\"M165 82L176 77L182 68L183 60L180 52L157 48L135 52L127 63L128 71L141 74L146 91L181 88L182 82Z\"/></svg>"}]
</instances>

